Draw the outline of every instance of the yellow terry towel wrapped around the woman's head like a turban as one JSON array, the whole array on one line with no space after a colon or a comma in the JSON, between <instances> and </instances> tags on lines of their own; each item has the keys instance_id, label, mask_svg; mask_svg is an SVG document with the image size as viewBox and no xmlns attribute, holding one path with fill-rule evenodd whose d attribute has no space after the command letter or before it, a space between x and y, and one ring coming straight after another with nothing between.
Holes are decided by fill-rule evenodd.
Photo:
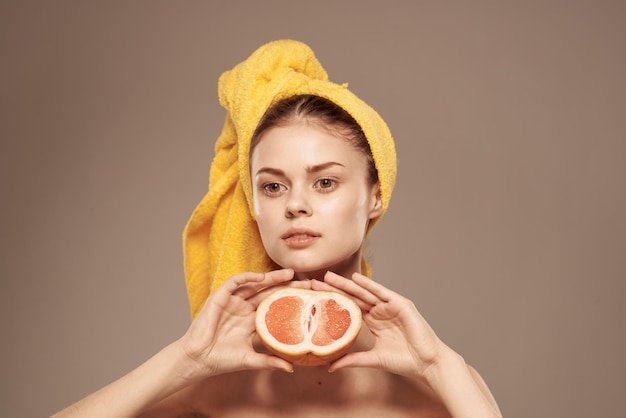
<instances>
[{"instance_id":1,"label":"yellow terry towel wrapped around the woman's head like a turban","mask_svg":"<svg viewBox=\"0 0 626 418\"><path fill-rule=\"evenodd\" d=\"M270 42L223 73L219 100L226 122L215 145L209 190L185 227L185 279L195 318L208 295L233 274L278 268L261 242L248 167L250 139L265 111L299 94L331 100L359 123L368 139L381 183L383 213L396 178L396 152L382 118L347 88L328 81L313 51L293 40ZM371 223L373 225L375 223ZM364 273L369 266L363 260Z\"/></svg>"}]
</instances>

